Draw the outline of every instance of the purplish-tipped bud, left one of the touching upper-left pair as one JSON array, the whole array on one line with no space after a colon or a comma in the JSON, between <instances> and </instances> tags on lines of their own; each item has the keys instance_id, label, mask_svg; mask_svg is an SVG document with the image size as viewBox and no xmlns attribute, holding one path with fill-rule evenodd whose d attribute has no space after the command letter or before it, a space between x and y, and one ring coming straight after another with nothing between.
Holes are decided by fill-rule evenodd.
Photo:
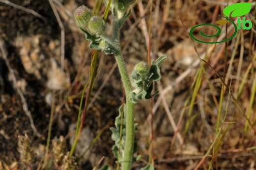
<instances>
[{"instance_id":1,"label":"purplish-tipped bud, left one of the touching upper-left pair","mask_svg":"<svg viewBox=\"0 0 256 170\"><path fill-rule=\"evenodd\" d=\"M92 18L93 14L91 10L82 5L75 10L74 17L78 27L85 28L88 25L89 20Z\"/></svg>"}]
</instances>

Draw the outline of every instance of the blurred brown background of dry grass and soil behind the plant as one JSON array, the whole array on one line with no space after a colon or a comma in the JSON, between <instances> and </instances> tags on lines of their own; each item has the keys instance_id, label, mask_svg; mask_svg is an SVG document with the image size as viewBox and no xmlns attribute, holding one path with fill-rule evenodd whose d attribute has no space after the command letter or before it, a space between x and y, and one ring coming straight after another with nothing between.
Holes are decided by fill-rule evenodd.
<instances>
[{"instance_id":1,"label":"blurred brown background of dry grass and soil behind the plant","mask_svg":"<svg viewBox=\"0 0 256 170\"><path fill-rule=\"evenodd\" d=\"M139 61L147 61L148 51L151 60L167 55L162 78L154 86L160 91L154 104L150 100L135 104L137 153L142 158L133 164L134 170L149 161L157 170L256 169L255 1L243 16L252 28L238 30L230 41L205 44L189 35L195 25L222 20L217 15L224 15L224 7L238 2L244 1L136 0L132 4L120 35L128 73ZM50 159L55 147L64 151L58 159L71 149L93 52L73 19L82 4L91 9L101 4L98 15L104 13L102 0L0 0L0 170L43 169L42 160ZM111 34L111 12L106 24ZM220 27L222 40L234 32L231 23ZM200 29L193 35L202 37ZM208 35L215 31L203 28ZM84 130L74 153L81 170L93 169L103 156L100 165L116 168L109 127L122 104L120 79L114 56L100 52ZM44 156L51 112L51 144ZM27 150L31 166L24 163L25 145L31 149ZM44 168L61 166L58 162Z\"/></svg>"}]
</instances>

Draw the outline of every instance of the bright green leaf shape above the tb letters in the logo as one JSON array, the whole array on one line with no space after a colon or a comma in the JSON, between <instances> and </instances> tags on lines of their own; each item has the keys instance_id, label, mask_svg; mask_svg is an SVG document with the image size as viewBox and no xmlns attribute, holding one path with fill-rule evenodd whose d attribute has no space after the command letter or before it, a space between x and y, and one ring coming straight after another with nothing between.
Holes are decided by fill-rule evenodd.
<instances>
[{"instance_id":1,"label":"bright green leaf shape above the tb letters in the logo","mask_svg":"<svg viewBox=\"0 0 256 170\"><path fill-rule=\"evenodd\" d=\"M225 16L229 17L232 12L231 17L239 17L248 14L251 11L251 6L252 3L248 2L234 3L225 7L223 13Z\"/></svg>"}]
</instances>

